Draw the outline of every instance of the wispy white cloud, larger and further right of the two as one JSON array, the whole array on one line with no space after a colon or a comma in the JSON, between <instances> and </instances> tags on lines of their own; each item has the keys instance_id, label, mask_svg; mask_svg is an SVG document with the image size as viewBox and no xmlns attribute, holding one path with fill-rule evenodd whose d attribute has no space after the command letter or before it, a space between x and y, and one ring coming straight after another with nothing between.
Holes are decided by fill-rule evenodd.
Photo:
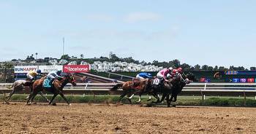
<instances>
[{"instance_id":1,"label":"wispy white cloud, larger and further right of the two","mask_svg":"<svg viewBox=\"0 0 256 134\"><path fill-rule=\"evenodd\" d=\"M133 12L124 17L124 21L127 23L137 23L140 21L157 21L162 18L154 12Z\"/></svg>"}]
</instances>

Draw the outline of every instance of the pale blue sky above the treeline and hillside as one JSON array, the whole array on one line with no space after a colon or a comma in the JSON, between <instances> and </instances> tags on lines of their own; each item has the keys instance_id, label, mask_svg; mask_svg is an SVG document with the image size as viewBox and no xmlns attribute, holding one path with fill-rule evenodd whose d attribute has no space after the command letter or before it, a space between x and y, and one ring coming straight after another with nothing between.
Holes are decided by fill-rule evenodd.
<instances>
[{"instance_id":1,"label":"pale blue sky above the treeline and hillside","mask_svg":"<svg viewBox=\"0 0 256 134\"><path fill-rule=\"evenodd\" d=\"M254 0L0 0L0 60L178 59L191 66L256 66Z\"/></svg>"}]
</instances>

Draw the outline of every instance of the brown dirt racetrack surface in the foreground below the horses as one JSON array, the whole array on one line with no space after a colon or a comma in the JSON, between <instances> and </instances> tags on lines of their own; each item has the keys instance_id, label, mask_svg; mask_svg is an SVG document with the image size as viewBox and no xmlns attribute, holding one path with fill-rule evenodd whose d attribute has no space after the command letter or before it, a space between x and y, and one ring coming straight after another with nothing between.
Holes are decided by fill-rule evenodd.
<instances>
[{"instance_id":1,"label":"brown dirt racetrack surface in the foreground below the horses","mask_svg":"<svg viewBox=\"0 0 256 134\"><path fill-rule=\"evenodd\" d=\"M256 133L256 109L0 104L0 133Z\"/></svg>"}]
</instances>

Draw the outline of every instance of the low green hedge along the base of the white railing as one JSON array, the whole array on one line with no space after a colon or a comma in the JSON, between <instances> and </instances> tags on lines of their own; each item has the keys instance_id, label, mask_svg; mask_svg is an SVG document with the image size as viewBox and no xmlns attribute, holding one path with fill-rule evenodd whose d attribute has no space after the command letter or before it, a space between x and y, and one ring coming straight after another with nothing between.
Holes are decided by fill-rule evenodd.
<instances>
[{"instance_id":1,"label":"low green hedge along the base of the white railing","mask_svg":"<svg viewBox=\"0 0 256 134\"><path fill-rule=\"evenodd\" d=\"M48 95L47 98L50 99L52 95ZM67 100L71 103L117 103L119 96L118 95L86 95L83 97L82 95L67 95ZM26 102L26 95L13 95L11 101L18 102ZM4 96L0 95L1 101L4 101ZM44 98L41 96L37 96L35 99L37 102L46 102ZM141 104L150 104L151 101L147 101L148 98L142 98ZM61 98L61 96L57 96L54 100L55 102L65 101ZM138 98L132 98L132 103L136 103ZM152 101L156 101L153 99ZM129 103L127 98L123 98L122 103ZM166 103L164 103L166 104ZM252 99L241 99L241 98L208 98L204 101L200 99L189 99L189 98L181 98L178 99L176 103L172 103L172 105L178 106L246 106L246 107L256 107L256 100Z\"/></svg>"}]
</instances>

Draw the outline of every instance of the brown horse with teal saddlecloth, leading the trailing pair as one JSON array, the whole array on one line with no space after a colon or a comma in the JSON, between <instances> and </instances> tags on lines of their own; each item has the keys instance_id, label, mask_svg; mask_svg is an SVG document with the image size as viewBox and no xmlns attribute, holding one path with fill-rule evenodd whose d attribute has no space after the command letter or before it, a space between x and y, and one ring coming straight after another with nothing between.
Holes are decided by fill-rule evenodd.
<instances>
[{"instance_id":1,"label":"brown horse with teal saddlecloth, leading the trailing pair","mask_svg":"<svg viewBox=\"0 0 256 134\"><path fill-rule=\"evenodd\" d=\"M54 98L56 98L57 95L61 95L61 97L67 102L67 104L70 106L69 101L67 101L67 98L64 96L63 94L63 88L67 83L71 83L72 86L75 86L75 77L71 76L69 74L67 74L66 76L64 76L63 79L59 80L59 79L55 79L53 81L53 85L51 87L43 87L44 79L39 79L39 81L37 83L33 84L33 91L31 92L31 94L29 95L29 99L26 103L26 105L29 105L29 101L33 101L34 97L37 95L38 92L45 90L47 92L52 92L53 93L53 97L51 98L49 105L53 102Z\"/></svg>"}]
</instances>

